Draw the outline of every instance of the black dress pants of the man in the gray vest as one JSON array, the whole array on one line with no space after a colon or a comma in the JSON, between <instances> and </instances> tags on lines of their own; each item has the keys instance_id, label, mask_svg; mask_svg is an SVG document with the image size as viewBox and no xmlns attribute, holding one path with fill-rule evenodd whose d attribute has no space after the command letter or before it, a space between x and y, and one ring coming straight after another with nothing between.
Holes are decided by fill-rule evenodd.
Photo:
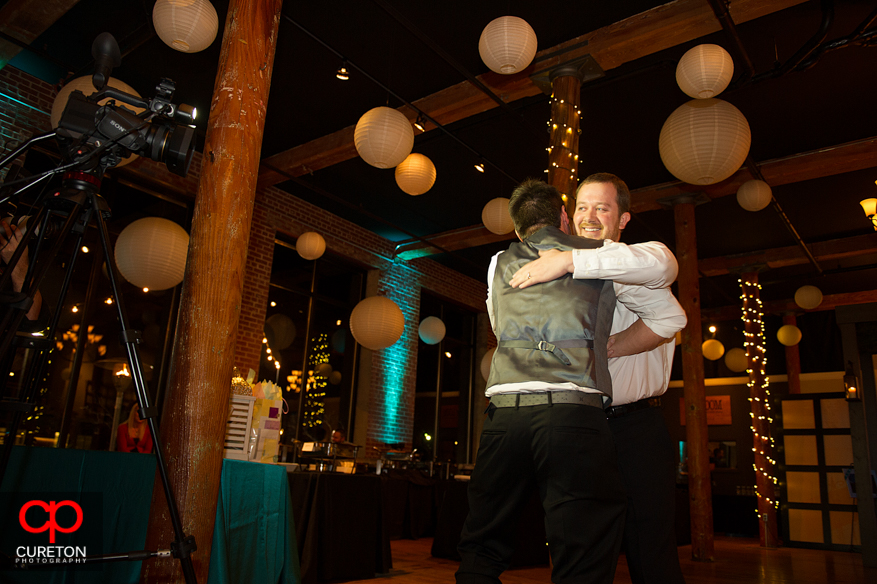
<instances>
[{"instance_id":1,"label":"black dress pants of the man in the gray vest","mask_svg":"<svg viewBox=\"0 0 877 584\"><path fill-rule=\"evenodd\" d=\"M573 404L488 409L457 548L457 582L500 581L534 487L545 509L551 580L610 584L627 498L605 414Z\"/></svg>"}]
</instances>

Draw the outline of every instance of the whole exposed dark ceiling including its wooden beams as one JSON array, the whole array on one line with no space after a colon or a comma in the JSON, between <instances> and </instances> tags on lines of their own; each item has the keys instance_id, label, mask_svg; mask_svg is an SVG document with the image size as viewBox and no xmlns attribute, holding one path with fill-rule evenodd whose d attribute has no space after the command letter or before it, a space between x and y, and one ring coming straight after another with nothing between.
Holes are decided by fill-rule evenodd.
<instances>
[{"instance_id":1,"label":"whole exposed dark ceiling including its wooden beams","mask_svg":"<svg viewBox=\"0 0 877 584\"><path fill-rule=\"evenodd\" d=\"M221 34L228 2L213 4ZM170 77L177 82L176 103L206 112L220 42L196 54L174 51L154 33L153 5L153 0L0 0L0 32L7 35L0 40L0 57L14 54L13 66L57 83L90 75L92 40L110 32L123 55L114 77L144 96L153 95L161 77ZM830 20L824 21L825 11ZM772 185L818 268L774 209L751 213L737 204L737 186L751 178L746 169L718 185L694 188L679 184L661 163L661 126L689 99L674 75L684 52L701 43L719 44L735 58L735 77L745 69L707 0L287 1L260 182L398 242L400 251L422 248L417 238L450 232L441 245L458 249L432 257L483 279L488 259L508 241L484 237L482 207L508 196L524 178L546 176L547 166L548 96L527 74L504 78L489 72L478 54L484 26L506 14L524 18L536 31L534 70L556 61L554 53L563 48L590 51L603 68L604 77L582 87L579 176L606 171L628 182L637 213L625 230L627 242L657 238L674 247L673 211L659 200L680 192L707 194L696 211L704 308L736 304L733 272L756 264L770 266L761 276L768 303L790 300L807 283L827 295L847 295L837 302L849 301L851 294L858 294L858 301L875 299L862 293L877 289L877 234L858 203L877 196L874 0L730 4L759 80L720 98L749 121L750 160ZM828 43L863 23L867 29L856 43L826 50L805 71L768 78L823 22ZM9 37L32 50L21 50ZM349 81L335 78L344 59L352 69ZM471 84L474 77L499 96L502 107ZM415 132L414 151L429 156L438 171L435 186L418 197L398 188L392 170L373 168L352 150L359 117L380 105L402 107L402 100L445 130L430 124L425 133ZM203 131L205 120L198 125ZM479 158L488 162L484 174L473 168ZM484 244L473 246L478 243Z\"/></svg>"}]
</instances>

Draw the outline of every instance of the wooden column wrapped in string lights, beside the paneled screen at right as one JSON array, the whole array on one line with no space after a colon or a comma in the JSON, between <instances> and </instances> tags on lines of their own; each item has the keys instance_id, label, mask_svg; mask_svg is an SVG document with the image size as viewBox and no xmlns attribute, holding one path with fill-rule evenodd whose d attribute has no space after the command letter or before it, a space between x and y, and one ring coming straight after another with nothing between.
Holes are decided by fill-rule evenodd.
<instances>
[{"instance_id":1,"label":"wooden column wrapped in string lights, beside the paneled screen at right","mask_svg":"<svg viewBox=\"0 0 877 584\"><path fill-rule=\"evenodd\" d=\"M770 425L770 391L767 379L767 358L764 340L764 311L761 304L761 286L758 274L747 272L740 278L740 299L743 302L743 324L746 340L743 343L749 361L749 402L752 425L752 452L755 462L755 494L758 497L758 532L763 547L776 547L776 509L779 505L775 492L773 438Z\"/></svg>"}]
</instances>

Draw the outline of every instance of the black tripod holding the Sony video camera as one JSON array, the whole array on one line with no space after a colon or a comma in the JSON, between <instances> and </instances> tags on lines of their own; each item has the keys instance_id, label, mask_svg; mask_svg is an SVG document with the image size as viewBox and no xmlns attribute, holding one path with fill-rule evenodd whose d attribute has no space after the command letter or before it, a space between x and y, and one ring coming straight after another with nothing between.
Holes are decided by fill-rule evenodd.
<instances>
[{"instance_id":1,"label":"black tripod holding the Sony video camera","mask_svg":"<svg viewBox=\"0 0 877 584\"><path fill-rule=\"evenodd\" d=\"M0 168L5 167L11 160L17 157L21 152L29 148L33 143L44 140L47 137L53 137L55 132L44 134L36 138L32 138L21 148L0 161ZM36 215L32 216L28 221L28 228L22 240L19 242L15 253L9 260L9 264L0 277L0 289L8 285L12 274L12 267L18 264L28 243L37 237L34 245L33 255L31 256L30 265L28 266L27 275L21 289L21 293L12 295L8 299L9 308L0 324L2 331L2 341L0 341L0 361L11 362L10 351L14 351L13 345L23 346L34 350L35 357L29 364L29 372L24 377L25 383L20 388L19 395L16 399L7 399L3 395L0 401L0 408L12 411L12 423L4 440L3 451L0 454L0 483L6 474L6 468L12 452L13 442L21 424L22 418L29 411L32 411L35 405L35 396L38 391L39 380L43 378L48 363L49 354L54 345L54 336L58 321L60 319L61 307L67 295L70 282L72 279L73 268L79 256L82 242L88 226L94 224L100 236L100 244L103 251L103 259L106 262L107 274L112 286L113 297L115 298L115 306L118 313L120 324L120 339L125 345L129 371L136 392L137 403L140 408L140 417L145 420L149 427L149 432L153 440L153 450L155 452L156 462L158 465L159 475L164 489L165 499L167 500L168 511L174 530L174 541L171 543L170 550L159 551L133 551L123 552L102 556L86 557L86 562L104 562L104 561L140 561L152 557L168 557L172 556L180 561L180 565L187 584L196 584L196 576L192 564L191 553L197 549L195 538L192 535L186 536L183 532L182 522L176 506L176 499L168 479L167 467L164 461L163 449L158 432L156 415L158 408L150 403L147 386L144 380L143 365L140 358L138 344L140 342L140 332L132 330L128 324L128 318L125 312L124 298L118 285L118 273L116 263L113 258L109 233L107 231L106 220L110 217L110 209L106 201L100 196L99 189L103 174L106 167L101 164L95 164L94 158L99 151L92 152L92 156L88 154L80 156L77 160L81 160L81 164L66 164L61 168L67 168L63 175L63 187L61 191L54 197L50 197L39 208ZM77 152L82 154L82 152ZM70 167L73 166L72 169ZM17 181L16 181L17 182ZM8 183L7 183L8 184ZM47 241L46 234L50 224L50 219L63 218L63 226L54 236L55 240L51 244L47 253L42 253L42 247ZM37 235L38 234L38 235ZM48 268L53 263L54 258L65 247L68 236L73 235L75 245L72 247L71 256L67 264L61 291L56 304L56 310L52 315L48 332L43 336L31 336L19 334L19 328L24 316L33 304L33 299L46 276ZM69 247L68 247L69 249ZM96 260L96 265L99 265ZM96 275L92 272L92 277ZM8 295L7 295L8 296ZM84 331L81 331L84 334ZM8 359L7 359L8 357ZM76 352L74 358L74 371L76 369L76 360L81 361L81 351ZM5 375L4 375L5 374ZM8 371L0 372L2 379L8 379ZM74 376L71 374L71 379ZM5 386L4 386L5 389ZM68 391L73 391L74 386L71 384ZM4 392L5 393L5 392Z\"/></svg>"}]
</instances>

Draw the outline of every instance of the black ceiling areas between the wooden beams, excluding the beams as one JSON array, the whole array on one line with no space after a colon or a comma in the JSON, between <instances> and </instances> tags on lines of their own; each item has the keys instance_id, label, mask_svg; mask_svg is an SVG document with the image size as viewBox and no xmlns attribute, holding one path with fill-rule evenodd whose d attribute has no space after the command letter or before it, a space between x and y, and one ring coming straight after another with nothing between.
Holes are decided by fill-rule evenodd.
<instances>
[{"instance_id":1,"label":"black ceiling areas between the wooden beams, excluding the beams","mask_svg":"<svg viewBox=\"0 0 877 584\"><path fill-rule=\"evenodd\" d=\"M20 3L0 0L0 10L13 2ZM153 0L80 0L37 36L31 43L34 51L22 51L12 65L52 83L71 72L72 76L91 74L91 42L107 31L116 37L123 53L114 77L144 96L153 95L159 78L170 77L177 82L175 102L207 112L220 41L197 54L174 51L154 33L153 4ZM213 4L221 35L228 2L214 0ZM544 50L661 4L648 0L287 1L262 157L352 126L373 107L399 107L400 98L413 102L464 82L466 73L488 73L478 54L478 38L484 26L499 16L524 18L536 31L539 50ZM703 5L709 11L707 0ZM819 30L824 10L830 9L833 15L826 36L830 42L873 19L875 7L873 0L810 1L738 23L737 30L755 73L763 77ZM729 36L716 30L608 70L602 79L582 87L579 176L613 172L633 190L676 180L661 163L658 135L670 113L689 99L675 82L677 61L695 45L714 43L735 56L736 77L743 71ZM826 51L806 71L743 84L719 96L748 119L752 160L761 164L877 136L877 49L869 46L874 43L873 34L869 28L859 42ZM353 65L346 82L335 78L342 58ZM538 94L451 123L446 132L415 132L419 135L414 151L429 156L438 172L435 186L418 197L398 188L392 170L373 168L359 157L278 186L395 242L477 225L488 200L508 196L524 178L546 176L549 116L548 96ZM203 140L203 116L198 127ZM488 162L484 174L473 168L480 157ZM875 158L873 151L870 157ZM801 181L793 177L775 186L775 199L805 243L874 234L858 201L877 196L877 170L874 164L860 168L842 174L827 168L819 173L822 178ZM637 200L635 193L634 204ZM796 245L773 209L751 213L740 208L734 196L713 197L698 206L696 215L700 258ZM673 211L638 213L624 239L629 243L661 239L674 247ZM819 285L825 294L877 289L877 246L869 241L869 247L853 257L820 259L821 275L810 263L764 272L765 298L790 299L797 287L807 283ZM490 256L506 246L507 242L498 242L432 257L483 279ZM705 308L736 304L736 276L704 278L701 294Z\"/></svg>"}]
</instances>

